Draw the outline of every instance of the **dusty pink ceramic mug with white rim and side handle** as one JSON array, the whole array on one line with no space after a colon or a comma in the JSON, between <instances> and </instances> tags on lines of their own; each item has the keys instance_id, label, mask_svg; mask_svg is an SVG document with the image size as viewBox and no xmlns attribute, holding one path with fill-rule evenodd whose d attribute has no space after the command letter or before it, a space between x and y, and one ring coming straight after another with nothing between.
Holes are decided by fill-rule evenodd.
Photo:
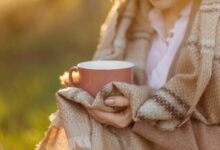
<instances>
[{"instance_id":1,"label":"dusty pink ceramic mug with white rim and side handle","mask_svg":"<svg viewBox=\"0 0 220 150\"><path fill-rule=\"evenodd\" d=\"M69 71L70 85L96 96L107 83L119 81L133 83L134 64L126 61L98 60L79 63Z\"/></svg>"}]
</instances>

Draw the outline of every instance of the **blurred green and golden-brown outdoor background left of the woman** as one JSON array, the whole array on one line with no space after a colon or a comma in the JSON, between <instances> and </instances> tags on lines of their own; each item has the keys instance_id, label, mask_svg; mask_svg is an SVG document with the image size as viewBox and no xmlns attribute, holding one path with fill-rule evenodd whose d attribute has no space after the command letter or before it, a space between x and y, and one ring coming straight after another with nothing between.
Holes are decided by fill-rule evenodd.
<instances>
[{"instance_id":1,"label":"blurred green and golden-brown outdoor background left of the woman","mask_svg":"<svg viewBox=\"0 0 220 150\"><path fill-rule=\"evenodd\" d=\"M110 0L0 0L0 150L32 150L59 76L89 60Z\"/></svg>"}]
</instances>

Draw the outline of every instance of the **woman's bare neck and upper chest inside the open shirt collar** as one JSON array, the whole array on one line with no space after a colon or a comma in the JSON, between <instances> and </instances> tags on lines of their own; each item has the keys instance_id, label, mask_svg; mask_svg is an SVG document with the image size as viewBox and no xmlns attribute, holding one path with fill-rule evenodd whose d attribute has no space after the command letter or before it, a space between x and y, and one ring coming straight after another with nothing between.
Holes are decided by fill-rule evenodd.
<instances>
[{"instance_id":1,"label":"woman's bare neck and upper chest inside the open shirt collar","mask_svg":"<svg viewBox=\"0 0 220 150\"><path fill-rule=\"evenodd\" d=\"M175 22L180 18L181 11L192 1L193 0L180 0L174 5L174 7L162 10L166 36L168 35L169 30L173 28Z\"/></svg>"}]
</instances>

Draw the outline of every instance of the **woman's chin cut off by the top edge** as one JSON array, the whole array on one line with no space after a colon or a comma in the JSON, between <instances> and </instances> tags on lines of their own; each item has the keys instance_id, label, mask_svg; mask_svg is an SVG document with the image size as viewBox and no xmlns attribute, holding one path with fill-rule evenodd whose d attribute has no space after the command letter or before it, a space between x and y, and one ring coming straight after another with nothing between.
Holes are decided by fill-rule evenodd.
<instances>
[{"instance_id":1,"label":"woman's chin cut off by the top edge","mask_svg":"<svg viewBox=\"0 0 220 150\"><path fill-rule=\"evenodd\" d=\"M150 3L155 7L161 10L166 10L172 8L172 0L149 0Z\"/></svg>"}]
</instances>

